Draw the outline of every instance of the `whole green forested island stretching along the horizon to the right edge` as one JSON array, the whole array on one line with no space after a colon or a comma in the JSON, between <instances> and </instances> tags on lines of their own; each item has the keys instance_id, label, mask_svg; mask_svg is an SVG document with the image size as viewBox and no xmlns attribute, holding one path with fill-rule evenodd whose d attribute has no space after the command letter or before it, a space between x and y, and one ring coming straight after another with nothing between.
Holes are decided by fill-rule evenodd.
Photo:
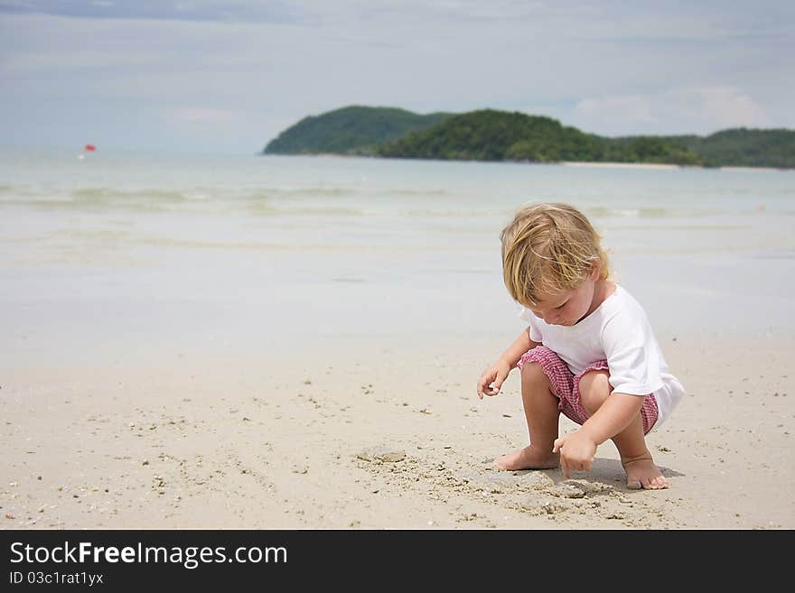
<instances>
[{"instance_id":1,"label":"whole green forested island stretching along the horizon to the right edge","mask_svg":"<svg viewBox=\"0 0 795 593\"><path fill-rule=\"evenodd\" d=\"M304 117L264 154L340 154L487 162L624 162L795 168L795 131L723 130L708 136L588 134L545 116L480 109L419 115L350 106Z\"/></svg>"}]
</instances>

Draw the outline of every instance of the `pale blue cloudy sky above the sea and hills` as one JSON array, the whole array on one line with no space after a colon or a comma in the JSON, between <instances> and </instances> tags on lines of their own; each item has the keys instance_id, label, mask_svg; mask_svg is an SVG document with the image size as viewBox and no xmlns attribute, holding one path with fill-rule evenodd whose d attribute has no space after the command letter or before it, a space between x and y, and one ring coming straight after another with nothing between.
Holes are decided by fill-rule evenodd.
<instances>
[{"instance_id":1,"label":"pale blue cloudy sky above the sea and hills","mask_svg":"<svg viewBox=\"0 0 795 593\"><path fill-rule=\"evenodd\" d=\"M791 0L0 0L0 144L257 153L363 105L795 129Z\"/></svg>"}]
</instances>

